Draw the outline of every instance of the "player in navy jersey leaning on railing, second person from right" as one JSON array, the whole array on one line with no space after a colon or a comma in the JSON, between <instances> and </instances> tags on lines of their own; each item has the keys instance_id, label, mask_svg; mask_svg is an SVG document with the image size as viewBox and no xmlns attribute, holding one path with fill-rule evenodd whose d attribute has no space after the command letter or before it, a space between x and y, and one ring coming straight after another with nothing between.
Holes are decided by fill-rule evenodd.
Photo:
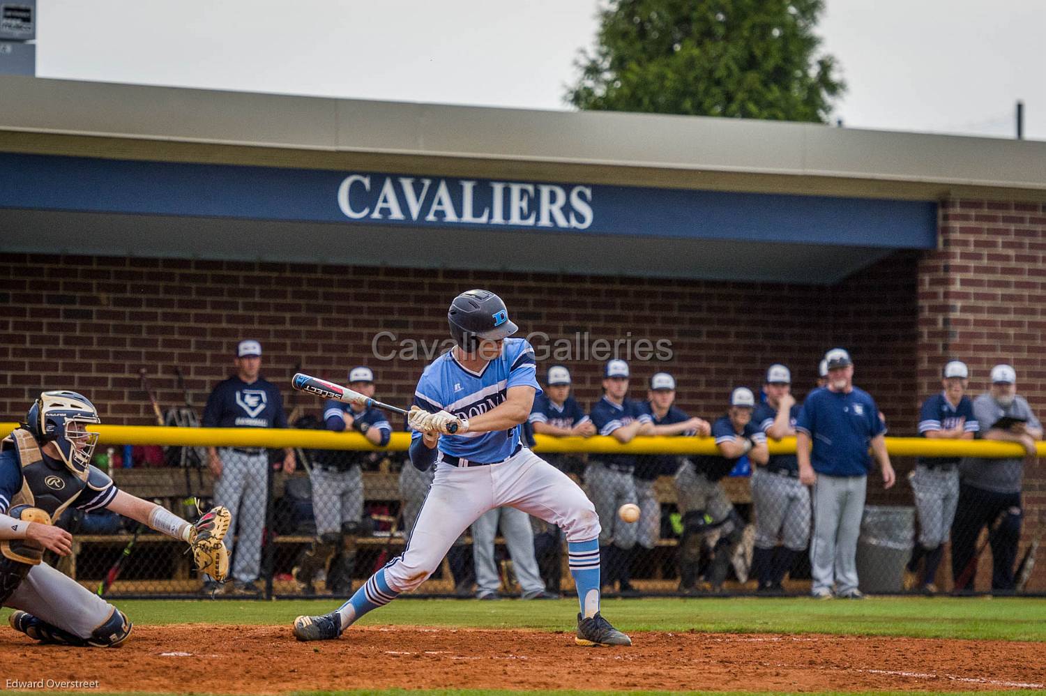
<instances>
[{"instance_id":1,"label":"player in navy jersey leaning on railing, second person from right","mask_svg":"<svg viewBox=\"0 0 1046 696\"><path fill-rule=\"evenodd\" d=\"M970 371L964 362L952 360L945 365L940 384L943 390L923 403L918 432L930 440L973 440L980 430L974 405L965 396ZM905 589L918 588L924 593L937 591L934 578L945 553L948 532L955 519L959 500L960 457L920 456L908 475L915 494L918 515L918 543L905 570ZM922 579L916 576L918 562L926 559Z\"/></svg>"}]
</instances>

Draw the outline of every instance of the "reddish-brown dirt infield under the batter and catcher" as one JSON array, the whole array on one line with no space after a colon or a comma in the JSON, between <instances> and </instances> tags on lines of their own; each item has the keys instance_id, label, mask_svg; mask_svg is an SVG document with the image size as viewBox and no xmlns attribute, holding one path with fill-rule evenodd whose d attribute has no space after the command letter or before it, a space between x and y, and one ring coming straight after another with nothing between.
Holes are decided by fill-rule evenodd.
<instances>
[{"instance_id":1,"label":"reddish-brown dirt infield under the batter and catcher","mask_svg":"<svg viewBox=\"0 0 1046 696\"><path fill-rule=\"evenodd\" d=\"M97 680L100 691L1046 688L1042 643L666 632L633 639L632 648L581 648L569 632L395 626L304 644L289 627L196 624L138 627L108 650L37 646L3 630L0 654L7 679Z\"/></svg>"}]
</instances>

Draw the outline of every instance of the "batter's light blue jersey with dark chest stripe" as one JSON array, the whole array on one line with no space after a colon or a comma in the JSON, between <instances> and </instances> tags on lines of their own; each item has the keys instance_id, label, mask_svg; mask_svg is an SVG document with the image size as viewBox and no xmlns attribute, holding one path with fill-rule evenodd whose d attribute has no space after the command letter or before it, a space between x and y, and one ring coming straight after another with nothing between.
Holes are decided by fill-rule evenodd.
<instances>
[{"instance_id":1,"label":"batter's light blue jersey with dark chest stripe","mask_svg":"<svg viewBox=\"0 0 1046 696\"><path fill-rule=\"evenodd\" d=\"M414 403L435 413L446 410L462 419L485 413L504 403L514 386L530 386L541 394L535 371L533 349L524 338L506 338L501 356L474 373L448 351L425 368L414 390ZM412 433L412 440L422 433ZM442 435L439 451L470 462L501 462L520 447L519 426L493 432L467 432Z\"/></svg>"}]
</instances>

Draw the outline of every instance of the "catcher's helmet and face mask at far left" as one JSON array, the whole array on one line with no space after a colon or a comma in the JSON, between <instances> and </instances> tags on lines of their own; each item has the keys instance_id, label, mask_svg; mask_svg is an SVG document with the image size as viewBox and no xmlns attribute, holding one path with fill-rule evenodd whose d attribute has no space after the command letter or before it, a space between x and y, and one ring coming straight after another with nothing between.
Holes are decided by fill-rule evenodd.
<instances>
[{"instance_id":1,"label":"catcher's helmet and face mask at far left","mask_svg":"<svg viewBox=\"0 0 1046 696\"><path fill-rule=\"evenodd\" d=\"M100 423L90 401L75 391L44 391L25 414L25 425L41 445L54 443L66 467L83 477L98 444L85 426Z\"/></svg>"}]
</instances>

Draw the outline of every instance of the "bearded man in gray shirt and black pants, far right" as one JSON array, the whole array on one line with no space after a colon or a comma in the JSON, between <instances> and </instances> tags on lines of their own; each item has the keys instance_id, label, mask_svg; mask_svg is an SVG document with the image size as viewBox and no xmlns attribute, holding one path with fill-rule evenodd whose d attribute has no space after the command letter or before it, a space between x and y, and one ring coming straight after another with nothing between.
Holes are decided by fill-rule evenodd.
<instances>
[{"instance_id":1,"label":"bearded man in gray shirt and black pants, far right","mask_svg":"<svg viewBox=\"0 0 1046 696\"><path fill-rule=\"evenodd\" d=\"M1021 538L1024 511L1021 504L1021 485L1024 466L1034 462L1036 441L1042 440L1043 427L1024 397L1017 394L1017 371L1001 364L992 368L992 387L974 399L974 417L980 424L984 440L1018 443L1024 448L1024 457L988 459L964 457L959 465L959 502L952 523L952 574L956 590L972 590L974 576L963 571L974 558L977 537L985 526L995 531L992 540L992 589L1002 592L1014 590L1014 563ZM997 426L999 420L1009 417L1014 423ZM976 566L975 566L976 567Z\"/></svg>"}]
</instances>

